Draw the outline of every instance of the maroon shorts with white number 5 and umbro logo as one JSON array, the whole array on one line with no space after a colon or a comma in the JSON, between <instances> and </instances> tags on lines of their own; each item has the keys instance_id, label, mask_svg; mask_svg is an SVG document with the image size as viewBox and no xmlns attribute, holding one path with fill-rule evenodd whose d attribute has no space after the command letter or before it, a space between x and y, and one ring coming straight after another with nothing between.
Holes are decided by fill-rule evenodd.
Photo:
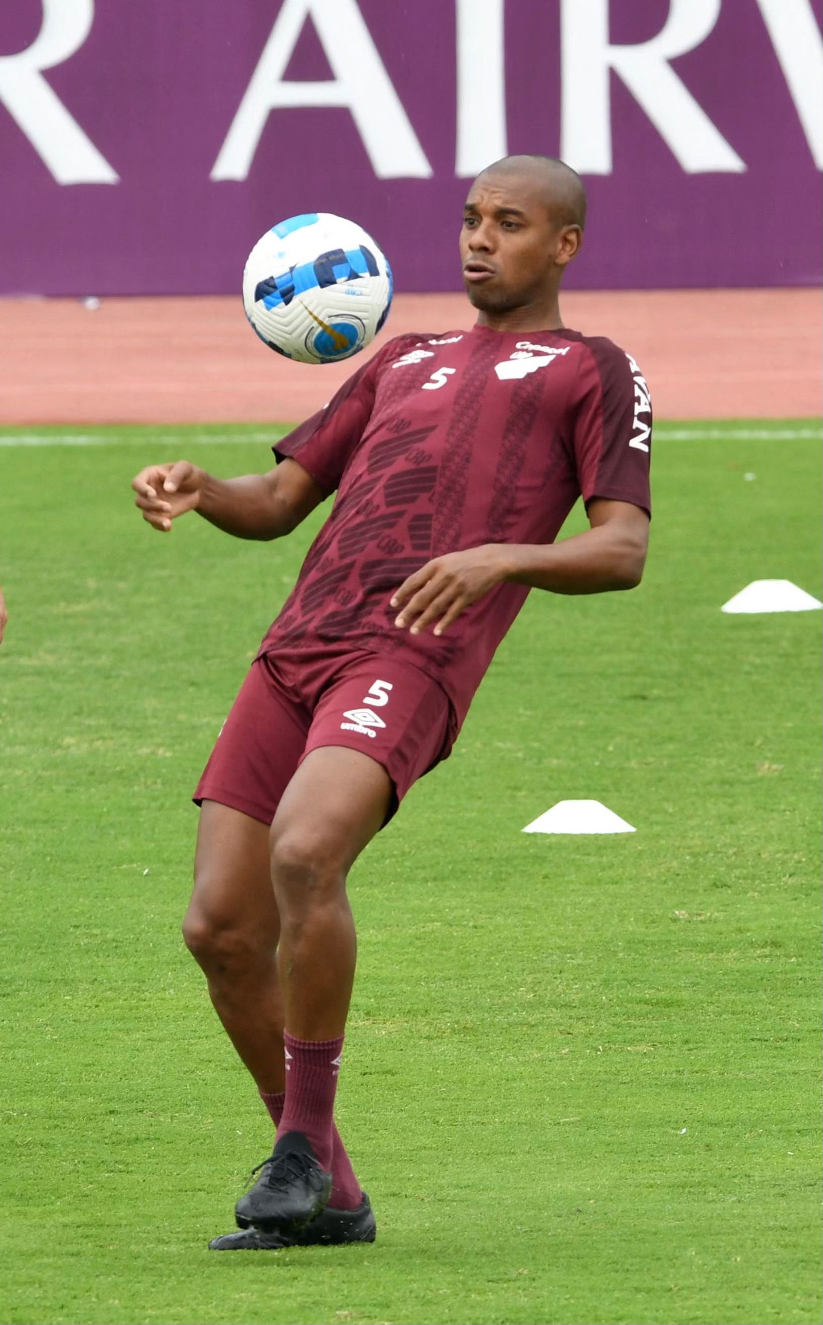
<instances>
[{"instance_id":1,"label":"maroon shorts with white number 5 and umbro logo","mask_svg":"<svg viewBox=\"0 0 823 1325\"><path fill-rule=\"evenodd\" d=\"M308 751L345 746L389 774L390 818L412 783L447 757L450 726L445 690L408 662L377 653L299 662L266 653L253 662L193 799L270 824Z\"/></svg>"}]
</instances>

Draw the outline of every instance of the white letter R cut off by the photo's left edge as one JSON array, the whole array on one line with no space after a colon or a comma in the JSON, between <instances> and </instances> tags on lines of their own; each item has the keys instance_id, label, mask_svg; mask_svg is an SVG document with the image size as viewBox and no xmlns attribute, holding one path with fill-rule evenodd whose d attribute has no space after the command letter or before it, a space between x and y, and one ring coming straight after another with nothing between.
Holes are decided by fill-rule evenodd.
<instances>
[{"instance_id":1,"label":"white letter R cut off by the photo's left edge","mask_svg":"<svg viewBox=\"0 0 823 1325\"><path fill-rule=\"evenodd\" d=\"M0 101L46 163L58 184L116 184L118 175L98 152L44 69L79 50L94 21L94 0L42 0L42 25L16 56L0 56Z\"/></svg>"}]
</instances>

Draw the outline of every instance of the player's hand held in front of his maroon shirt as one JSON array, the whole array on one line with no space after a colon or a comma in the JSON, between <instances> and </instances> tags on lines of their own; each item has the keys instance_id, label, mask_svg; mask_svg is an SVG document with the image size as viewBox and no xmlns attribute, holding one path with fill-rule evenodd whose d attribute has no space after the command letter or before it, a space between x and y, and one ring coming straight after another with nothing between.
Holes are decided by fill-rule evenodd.
<instances>
[{"instance_id":1,"label":"player's hand held in front of his maroon shirt","mask_svg":"<svg viewBox=\"0 0 823 1325\"><path fill-rule=\"evenodd\" d=\"M392 598L390 606L402 608L394 624L412 635L433 625L442 635L460 612L507 579L508 553L505 545L486 543L426 562Z\"/></svg>"}]
</instances>

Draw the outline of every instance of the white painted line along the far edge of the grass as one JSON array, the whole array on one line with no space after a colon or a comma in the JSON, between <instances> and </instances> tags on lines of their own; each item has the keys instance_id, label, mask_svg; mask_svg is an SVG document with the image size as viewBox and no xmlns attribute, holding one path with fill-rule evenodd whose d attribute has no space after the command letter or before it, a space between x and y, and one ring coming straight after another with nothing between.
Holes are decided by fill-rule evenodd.
<instances>
[{"instance_id":1,"label":"white painted line along the far edge of the grass","mask_svg":"<svg viewBox=\"0 0 823 1325\"><path fill-rule=\"evenodd\" d=\"M140 425L142 428L144 425ZM278 441L283 433L271 432L143 432L131 435L128 425L123 432L82 433L82 432L9 432L0 433L0 447L119 447L122 443L167 443L191 441L213 445L228 443L269 443ZM782 428L668 428L658 424L654 436L656 441L810 441L820 437L819 427Z\"/></svg>"}]
</instances>

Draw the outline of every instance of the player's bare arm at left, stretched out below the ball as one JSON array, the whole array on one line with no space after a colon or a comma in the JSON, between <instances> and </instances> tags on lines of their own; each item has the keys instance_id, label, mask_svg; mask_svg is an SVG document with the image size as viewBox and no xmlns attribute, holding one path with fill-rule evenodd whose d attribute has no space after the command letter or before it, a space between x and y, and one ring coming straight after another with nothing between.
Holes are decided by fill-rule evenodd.
<instances>
[{"instance_id":1,"label":"player's bare arm at left, stretched out below the ball","mask_svg":"<svg viewBox=\"0 0 823 1325\"><path fill-rule=\"evenodd\" d=\"M290 534L327 493L296 460L286 458L267 474L214 478L179 460L150 465L131 485L135 506L152 529L167 534L189 510L236 538L267 541Z\"/></svg>"}]
</instances>

